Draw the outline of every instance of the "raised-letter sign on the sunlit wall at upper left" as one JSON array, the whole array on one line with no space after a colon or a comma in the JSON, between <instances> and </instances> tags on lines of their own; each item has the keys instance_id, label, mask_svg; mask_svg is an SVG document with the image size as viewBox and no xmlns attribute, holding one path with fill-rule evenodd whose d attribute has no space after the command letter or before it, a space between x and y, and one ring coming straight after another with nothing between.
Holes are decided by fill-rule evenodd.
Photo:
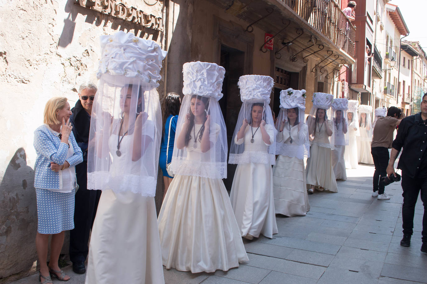
<instances>
[{"instance_id":1,"label":"raised-letter sign on the sunlit wall at upper left","mask_svg":"<svg viewBox=\"0 0 427 284\"><path fill-rule=\"evenodd\" d=\"M117 0L76 0L76 5L107 14L119 19L135 23L145 28L154 29L163 32L161 26L161 17L147 14L135 7L127 7Z\"/></svg>"}]
</instances>

